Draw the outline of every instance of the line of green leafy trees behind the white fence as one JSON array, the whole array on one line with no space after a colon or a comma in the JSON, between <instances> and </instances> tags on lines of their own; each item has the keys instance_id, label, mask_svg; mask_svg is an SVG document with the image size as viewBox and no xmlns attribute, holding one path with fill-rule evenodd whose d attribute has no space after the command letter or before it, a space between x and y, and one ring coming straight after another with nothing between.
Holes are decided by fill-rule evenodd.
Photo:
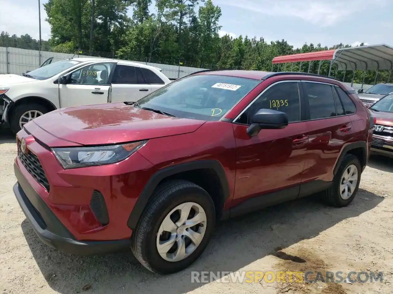
<instances>
[{"instance_id":1,"label":"line of green leafy trees behind the white fence","mask_svg":"<svg viewBox=\"0 0 393 294\"><path fill-rule=\"evenodd\" d=\"M196 7L200 4L198 10ZM153 12L149 8L154 7ZM44 4L51 25L51 39L42 42L57 52L187 65L203 68L302 71L327 75L330 62L310 61L272 66L275 56L350 47L347 44L305 43L294 48L286 40L267 43L263 37L219 37L221 9L212 0L48 0ZM132 9L132 18L127 16ZM197 11L196 11L197 10ZM37 40L3 32L0 45L38 49ZM364 44L360 44L364 45ZM90 52L86 52L90 49ZM387 82L389 71L337 71L331 75L345 82ZM390 75L390 81L393 74Z\"/></svg>"}]
</instances>

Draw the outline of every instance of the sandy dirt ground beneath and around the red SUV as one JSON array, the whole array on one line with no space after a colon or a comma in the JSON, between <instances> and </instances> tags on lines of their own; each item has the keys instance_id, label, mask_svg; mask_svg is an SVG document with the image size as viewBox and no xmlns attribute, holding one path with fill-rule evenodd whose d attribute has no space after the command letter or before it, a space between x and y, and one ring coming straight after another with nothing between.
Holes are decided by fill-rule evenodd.
<instances>
[{"instance_id":1,"label":"sandy dirt ground beneath and around the red SUV","mask_svg":"<svg viewBox=\"0 0 393 294\"><path fill-rule=\"evenodd\" d=\"M14 138L0 133L0 293L392 292L393 160L371 157L348 207L334 209L306 198L219 223L191 268L159 276L145 270L131 252L81 257L42 244L12 192ZM383 276L373 283L191 283L191 271L245 270L341 271L344 279L351 271L382 271Z\"/></svg>"}]
</instances>

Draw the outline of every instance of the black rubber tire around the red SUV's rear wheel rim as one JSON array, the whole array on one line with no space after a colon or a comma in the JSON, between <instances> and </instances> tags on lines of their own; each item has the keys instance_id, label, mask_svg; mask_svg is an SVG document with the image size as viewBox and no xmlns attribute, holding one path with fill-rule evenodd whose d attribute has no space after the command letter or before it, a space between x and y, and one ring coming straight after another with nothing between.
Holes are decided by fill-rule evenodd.
<instances>
[{"instance_id":1,"label":"black rubber tire around the red SUV's rear wheel rim","mask_svg":"<svg viewBox=\"0 0 393 294\"><path fill-rule=\"evenodd\" d=\"M353 166L356 167L357 169L356 177L355 177L357 181L353 191L351 191L352 194L350 195L350 197L345 198L342 197L340 193L341 192L340 186L343 180L344 173ZM324 198L327 204L334 207L345 207L349 205L349 203L352 202L352 200L356 196L356 193L358 192L361 172L362 172L362 167L360 166L360 161L358 160L358 158L353 154L346 154L342 163L340 164L340 167L338 168L336 175L334 176L332 186L325 191L326 194L324 195L325 196ZM350 182L353 183L353 181Z\"/></svg>"}]
</instances>

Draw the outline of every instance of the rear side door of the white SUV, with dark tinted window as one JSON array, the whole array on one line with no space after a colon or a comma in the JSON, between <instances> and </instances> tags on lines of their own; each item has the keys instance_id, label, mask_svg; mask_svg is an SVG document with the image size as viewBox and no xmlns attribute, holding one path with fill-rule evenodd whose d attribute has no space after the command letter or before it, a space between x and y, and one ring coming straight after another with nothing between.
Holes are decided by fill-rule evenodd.
<instances>
[{"instance_id":1,"label":"rear side door of the white SUV, with dark tinted window","mask_svg":"<svg viewBox=\"0 0 393 294\"><path fill-rule=\"evenodd\" d=\"M137 101L152 91L139 66L117 64L112 77L110 102Z\"/></svg>"}]
</instances>

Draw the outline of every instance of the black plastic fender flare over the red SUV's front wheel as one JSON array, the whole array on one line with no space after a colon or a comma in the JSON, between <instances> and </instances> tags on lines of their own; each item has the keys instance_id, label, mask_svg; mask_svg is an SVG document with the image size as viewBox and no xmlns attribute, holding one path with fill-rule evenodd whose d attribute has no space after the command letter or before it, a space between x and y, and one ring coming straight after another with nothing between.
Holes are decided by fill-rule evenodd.
<instances>
[{"instance_id":1,"label":"black plastic fender flare over the red SUV's front wheel","mask_svg":"<svg viewBox=\"0 0 393 294\"><path fill-rule=\"evenodd\" d=\"M213 169L217 173L217 176L220 179L220 185L222 191L224 192L223 203L225 203L225 201L228 200L230 196L230 189L229 189L228 179L226 178L224 168L222 167L219 161L197 160L193 162L180 163L177 165L160 169L159 171L157 171L155 174L151 176L151 178L149 179L149 181L147 181L145 187L143 188L141 194L139 195L138 200L136 200L134 208L132 209L132 212L127 221L128 227L131 230L135 230L136 225L138 224L138 221L146 205L149 203L149 200L152 197L154 189L156 189L160 181L162 181L163 179L169 176L173 176L174 174L179 174L181 172L192 171L196 169Z\"/></svg>"}]
</instances>

